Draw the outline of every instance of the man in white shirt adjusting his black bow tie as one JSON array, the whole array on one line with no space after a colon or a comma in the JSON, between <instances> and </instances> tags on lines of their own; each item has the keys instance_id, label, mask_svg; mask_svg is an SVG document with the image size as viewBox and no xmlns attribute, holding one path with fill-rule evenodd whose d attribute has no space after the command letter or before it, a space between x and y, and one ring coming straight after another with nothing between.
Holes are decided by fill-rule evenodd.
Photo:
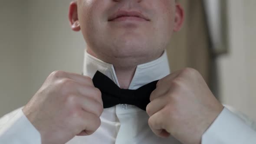
<instances>
[{"instance_id":1,"label":"man in white shirt adjusting his black bow tie","mask_svg":"<svg viewBox=\"0 0 256 144\"><path fill-rule=\"evenodd\" d=\"M253 124L224 108L199 72L170 74L165 49L183 20L175 0L72 2L71 28L87 43L84 76L50 74L25 107L1 119L0 143L255 144ZM160 80L146 108L104 108L97 71L123 89Z\"/></svg>"}]
</instances>

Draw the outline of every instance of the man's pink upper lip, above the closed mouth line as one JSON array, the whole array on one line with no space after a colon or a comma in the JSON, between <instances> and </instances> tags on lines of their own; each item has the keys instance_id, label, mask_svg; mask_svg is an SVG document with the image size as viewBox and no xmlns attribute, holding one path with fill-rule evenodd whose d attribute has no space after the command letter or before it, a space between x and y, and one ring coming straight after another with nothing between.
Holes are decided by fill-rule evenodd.
<instances>
[{"instance_id":1,"label":"man's pink upper lip, above the closed mouth line","mask_svg":"<svg viewBox=\"0 0 256 144\"><path fill-rule=\"evenodd\" d=\"M122 16L136 16L136 17L139 17L139 18L142 18L142 19L145 19L145 20L148 20L148 17L144 16L142 13L138 12L138 11L125 11L125 10L119 10L117 11L116 13L114 13L113 15L111 15L109 18L108 18L108 21L112 21L112 20L115 20L119 17L122 17Z\"/></svg>"}]
</instances>

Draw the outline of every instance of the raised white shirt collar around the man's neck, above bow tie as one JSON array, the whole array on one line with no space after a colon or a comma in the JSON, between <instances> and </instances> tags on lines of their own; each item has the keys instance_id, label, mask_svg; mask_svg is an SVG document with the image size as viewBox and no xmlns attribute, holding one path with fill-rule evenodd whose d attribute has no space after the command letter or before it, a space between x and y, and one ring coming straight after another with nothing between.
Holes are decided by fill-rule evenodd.
<instances>
[{"instance_id":1,"label":"raised white shirt collar around the man's neck, above bow tie","mask_svg":"<svg viewBox=\"0 0 256 144\"><path fill-rule=\"evenodd\" d=\"M100 71L104 75L108 76L108 78L112 79L112 81L119 86L114 66L110 63L103 62L94 56L91 56L85 50L83 74L93 78L97 71ZM169 74L170 68L167 59L167 52L165 50L162 56L158 59L137 66L129 89L137 89L148 84L149 82L162 79Z\"/></svg>"}]
</instances>

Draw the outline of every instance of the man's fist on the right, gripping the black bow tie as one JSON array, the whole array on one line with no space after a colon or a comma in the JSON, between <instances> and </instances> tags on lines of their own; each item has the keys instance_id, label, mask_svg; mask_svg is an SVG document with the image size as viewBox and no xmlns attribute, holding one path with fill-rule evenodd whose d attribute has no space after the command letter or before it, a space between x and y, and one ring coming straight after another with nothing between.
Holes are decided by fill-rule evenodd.
<instances>
[{"instance_id":1,"label":"man's fist on the right, gripping the black bow tie","mask_svg":"<svg viewBox=\"0 0 256 144\"><path fill-rule=\"evenodd\" d=\"M146 110L152 131L160 137L171 134L183 144L200 144L223 110L200 73L190 68L159 80L150 101Z\"/></svg>"}]
</instances>

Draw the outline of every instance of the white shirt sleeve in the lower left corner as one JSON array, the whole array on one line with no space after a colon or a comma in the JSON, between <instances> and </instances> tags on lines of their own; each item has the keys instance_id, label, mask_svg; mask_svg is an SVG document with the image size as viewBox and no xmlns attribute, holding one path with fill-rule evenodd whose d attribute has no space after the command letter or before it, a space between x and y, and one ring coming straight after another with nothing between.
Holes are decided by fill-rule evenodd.
<instances>
[{"instance_id":1,"label":"white shirt sleeve in the lower left corner","mask_svg":"<svg viewBox=\"0 0 256 144\"><path fill-rule=\"evenodd\" d=\"M0 118L0 144L41 144L41 136L20 108Z\"/></svg>"}]
</instances>

